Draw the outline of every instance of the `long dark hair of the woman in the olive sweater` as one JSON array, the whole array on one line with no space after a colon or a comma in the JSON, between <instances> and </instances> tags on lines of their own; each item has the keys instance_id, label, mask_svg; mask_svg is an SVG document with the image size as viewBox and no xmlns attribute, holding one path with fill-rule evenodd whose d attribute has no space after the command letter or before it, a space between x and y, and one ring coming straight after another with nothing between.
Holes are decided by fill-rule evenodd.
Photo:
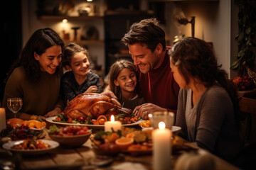
<instances>
[{"instance_id":1,"label":"long dark hair of the woman in the olive sweater","mask_svg":"<svg viewBox=\"0 0 256 170\"><path fill-rule=\"evenodd\" d=\"M23 47L23 50L21 50L18 60L11 66L5 81L9 79L9 76L16 67L23 67L26 73L26 79L34 82L38 81L41 77L41 69L39 62L34 58L34 52L38 55L42 55L46 52L46 49L53 45L60 45L61 49L63 49L64 46L63 40L54 30L51 28L36 30L31 38L29 38L25 47ZM59 64L55 74L61 73L62 67L61 64Z\"/></svg>"}]
</instances>

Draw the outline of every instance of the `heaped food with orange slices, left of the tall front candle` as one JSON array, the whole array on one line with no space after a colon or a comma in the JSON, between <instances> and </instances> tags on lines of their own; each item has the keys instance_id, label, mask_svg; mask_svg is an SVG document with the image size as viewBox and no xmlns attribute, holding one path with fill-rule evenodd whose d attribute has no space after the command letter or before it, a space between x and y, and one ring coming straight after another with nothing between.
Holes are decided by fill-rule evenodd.
<instances>
[{"instance_id":1,"label":"heaped food with orange slices, left of the tall front candle","mask_svg":"<svg viewBox=\"0 0 256 170\"><path fill-rule=\"evenodd\" d=\"M143 155L152 153L151 131L122 127L117 132L98 131L90 137L97 155L115 156L119 153Z\"/></svg>"}]
</instances>

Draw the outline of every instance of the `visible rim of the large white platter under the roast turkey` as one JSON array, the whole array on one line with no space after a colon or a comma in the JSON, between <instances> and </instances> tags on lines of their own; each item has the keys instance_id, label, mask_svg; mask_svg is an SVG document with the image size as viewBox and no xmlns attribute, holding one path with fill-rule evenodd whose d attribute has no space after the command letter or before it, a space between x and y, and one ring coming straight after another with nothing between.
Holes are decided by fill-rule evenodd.
<instances>
[{"instance_id":1,"label":"visible rim of the large white platter under the roast turkey","mask_svg":"<svg viewBox=\"0 0 256 170\"><path fill-rule=\"evenodd\" d=\"M104 130L104 125L87 125L87 124L80 124L80 123L61 123L61 122L55 122L53 120L55 120L56 117L57 116L46 118L46 121L48 121L48 123L53 123L53 124L57 124L57 125L82 125L82 126L87 126L87 128L93 129L93 130ZM145 120L138 120L136 123L124 124L122 126L133 127L133 126L139 125L139 123L141 123L143 121L145 121Z\"/></svg>"}]
</instances>

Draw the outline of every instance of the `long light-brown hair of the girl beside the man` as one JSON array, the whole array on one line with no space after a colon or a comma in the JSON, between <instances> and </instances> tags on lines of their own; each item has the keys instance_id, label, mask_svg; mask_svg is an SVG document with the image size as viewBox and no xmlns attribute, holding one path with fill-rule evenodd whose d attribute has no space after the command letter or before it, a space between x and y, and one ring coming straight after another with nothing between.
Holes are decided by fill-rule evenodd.
<instances>
[{"instance_id":1,"label":"long light-brown hair of the girl beside the man","mask_svg":"<svg viewBox=\"0 0 256 170\"><path fill-rule=\"evenodd\" d=\"M122 93L120 86L115 86L114 80L117 79L119 73L123 69L130 69L132 72L136 74L137 77L137 86L135 88L135 92L141 96L141 91L139 89L139 77L136 72L135 66L132 62L128 60L117 60L117 62L114 62L112 66L110 67L110 73L109 73L109 85L110 85L110 90L114 93L115 96L117 96L118 100L122 98Z\"/></svg>"}]
</instances>

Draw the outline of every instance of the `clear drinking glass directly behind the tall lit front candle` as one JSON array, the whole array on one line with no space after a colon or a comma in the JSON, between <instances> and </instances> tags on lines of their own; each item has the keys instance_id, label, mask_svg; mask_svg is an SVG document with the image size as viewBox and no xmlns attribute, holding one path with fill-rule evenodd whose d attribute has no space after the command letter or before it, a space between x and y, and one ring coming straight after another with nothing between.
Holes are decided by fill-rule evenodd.
<instances>
[{"instance_id":1,"label":"clear drinking glass directly behind the tall lit front candle","mask_svg":"<svg viewBox=\"0 0 256 170\"><path fill-rule=\"evenodd\" d=\"M160 122L164 122L166 128L171 130L172 125L174 125L174 113L167 111L157 111L153 114L149 113L149 120L151 127L154 129L159 128L158 125Z\"/></svg>"}]
</instances>

